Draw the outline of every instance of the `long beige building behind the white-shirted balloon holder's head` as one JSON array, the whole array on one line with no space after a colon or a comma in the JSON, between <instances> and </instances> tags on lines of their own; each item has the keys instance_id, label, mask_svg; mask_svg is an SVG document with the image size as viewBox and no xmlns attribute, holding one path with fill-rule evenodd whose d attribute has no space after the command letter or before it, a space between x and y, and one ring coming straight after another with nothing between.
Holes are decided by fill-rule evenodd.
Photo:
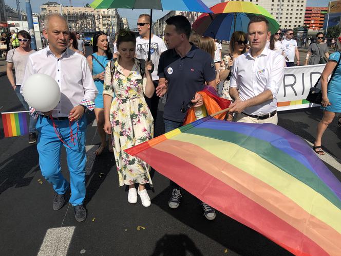
<instances>
[{"instance_id":1,"label":"long beige building behind the white-shirted balloon holder's head","mask_svg":"<svg viewBox=\"0 0 341 256\"><path fill-rule=\"evenodd\" d=\"M63 13L71 31L104 31L112 35L123 28L123 22L117 9L97 9L91 7L61 6L56 2L48 2L41 7L41 15Z\"/></svg>"}]
</instances>

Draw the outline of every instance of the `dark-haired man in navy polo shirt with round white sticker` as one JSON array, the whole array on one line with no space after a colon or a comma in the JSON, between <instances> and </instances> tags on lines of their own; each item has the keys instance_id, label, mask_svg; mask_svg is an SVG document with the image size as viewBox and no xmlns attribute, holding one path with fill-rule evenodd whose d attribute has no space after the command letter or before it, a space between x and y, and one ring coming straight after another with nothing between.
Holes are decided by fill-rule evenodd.
<instances>
[{"instance_id":1,"label":"dark-haired man in navy polo shirt with round white sticker","mask_svg":"<svg viewBox=\"0 0 341 256\"><path fill-rule=\"evenodd\" d=\"M166 24L164 39L168 50L160 57L156 92L159 97L167 93L163 113L167 133L182 125L185 113L181 112L181 108L184 104L190 101L195 107L203 104L202 96L197 92L204 88L205 82L216 88L216 74L210 54L188 41L191 24L186 17L170 17ZM180 204L180 187L172 180L170 186L173 191L168 206L175 209ZM214 209L204 202L201 202L201 206L205 217L213 220L216 216Z\"/></svg>"}]
</instances>

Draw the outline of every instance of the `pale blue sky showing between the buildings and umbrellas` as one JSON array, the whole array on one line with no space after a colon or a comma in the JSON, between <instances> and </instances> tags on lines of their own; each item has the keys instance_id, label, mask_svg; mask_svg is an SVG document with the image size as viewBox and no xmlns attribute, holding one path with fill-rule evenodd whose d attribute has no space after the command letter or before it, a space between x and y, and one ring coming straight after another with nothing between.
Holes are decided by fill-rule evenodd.
<instances>
[{"instance_id":1,"label":"pale blue sky showing between the buildings and umbrellas","mask_svg":"<svg viewBox=\"0 0 341 256\"><path fill-rule=\"evenodd\" d=\"M73 6L84 6L86 3L91 3L93 0L72 0ZM148 0L145 0L148 1ZM25 0L20 0L20 7L22 10L25 10ZM51 0L51 2L59 2L59 0ZM220 0L203 0L203 2L211 7L217 3L220 3ZM307 0L307 6L318 6L318 7L325 7L328 6L329 0ZM40 12L40 6L43 3L47 3L47 0L31 0L31 6L33 12ZM69 0L61 0L63 5L69 5ZM5 0L5 4L16 8L16 1L15 0ZM160 19L163 15L165 15L168 11L153 11L153 20ZM141 13L149 13L149 10L128 10L128 9L119 9L119 13L122 17L127 17L129 22L130 28L135 28L137 23L137 17Z\"/></svg>"}]
</instances>

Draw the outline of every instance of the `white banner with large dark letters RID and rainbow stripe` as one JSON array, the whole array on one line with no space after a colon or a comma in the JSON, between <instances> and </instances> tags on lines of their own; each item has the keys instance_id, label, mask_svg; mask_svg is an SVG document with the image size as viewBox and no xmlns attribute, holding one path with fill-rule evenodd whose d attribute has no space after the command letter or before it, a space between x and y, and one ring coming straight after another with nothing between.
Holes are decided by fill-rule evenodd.
<instances>
[{"instance_id":1,"label":"white banner with large dark letters RID and rainbow stripe","mask_svg":"<svg viewBox=\"0 0 341 256\"><path fill-rule=\"evenodd\" d=\"M326 64L286 67L277 94L277 111L318 106L306 101L309 89L321 76Z\"/></svg>"}]
</instances>

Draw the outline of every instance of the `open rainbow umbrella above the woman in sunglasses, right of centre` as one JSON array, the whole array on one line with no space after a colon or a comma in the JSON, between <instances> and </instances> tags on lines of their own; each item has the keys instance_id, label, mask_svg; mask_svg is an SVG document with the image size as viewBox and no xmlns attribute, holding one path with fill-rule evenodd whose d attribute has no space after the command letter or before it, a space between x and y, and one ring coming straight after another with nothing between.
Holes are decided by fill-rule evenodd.
<instances>
[{"instance_id":1,"label":"open rainbow umbrella above the woman in sunglasses, right of centre","mask_svg":"<svg viewBox=\"0 0 341 256\"><path fill-rule=\"evenodd\" d=\"M230 41L234 31L248 32L248 24L253 16L263 15L269 21L269 29L277 32L279 24L270 13L250 2L225 2L210 8L213 14L203 13L193 23L193 29L201 35Z\"/></svg>"}]
</instances>

